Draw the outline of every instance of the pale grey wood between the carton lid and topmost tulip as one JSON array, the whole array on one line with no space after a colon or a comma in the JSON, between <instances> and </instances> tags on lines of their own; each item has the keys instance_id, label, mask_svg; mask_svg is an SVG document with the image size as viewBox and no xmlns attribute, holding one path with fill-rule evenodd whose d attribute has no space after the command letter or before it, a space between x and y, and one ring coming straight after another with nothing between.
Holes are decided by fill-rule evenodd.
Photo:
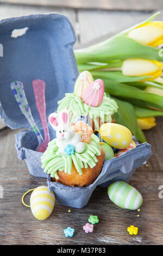
<instances>
[{"instance_id":1,"label":"pale grey wood between the carton lid and topmost tulip","mask_svg":"<svg viewBox=\"0 0 163 256\"><path fill-rule=\"evenodd\" d=\"M121 1L122 2L122 1ZM146 20L152 13L136 11L105 11L105 10L79 10L78 22L80 29L80 43L95 44L112 35ZM159 16L163 20L162 16Z\"/></svg>"}]
</instances>

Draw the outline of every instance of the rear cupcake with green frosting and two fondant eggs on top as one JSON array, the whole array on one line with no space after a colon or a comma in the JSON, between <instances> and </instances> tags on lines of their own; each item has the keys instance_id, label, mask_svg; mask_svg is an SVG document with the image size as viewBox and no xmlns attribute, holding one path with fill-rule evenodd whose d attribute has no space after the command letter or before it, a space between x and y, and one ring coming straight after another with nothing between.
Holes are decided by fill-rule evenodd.
<instances>
[{"instance_id":1,"label":"rear cupcake with green frosting and two fondant eggs on top","mask_svg":"<svg viewBox=\"0 0 163 256\"><path fill-rule=\"evenodd\" d=\"M66 93L58 101L58 111L68 109L72 123L79 115L89 115L93 130L98 130L103 123L111 123L112 115L117 112L117 103L104 93L104 82L93 81L89 71L83 71L74 85L73 93Z\"/></svg>"}]
</instances>

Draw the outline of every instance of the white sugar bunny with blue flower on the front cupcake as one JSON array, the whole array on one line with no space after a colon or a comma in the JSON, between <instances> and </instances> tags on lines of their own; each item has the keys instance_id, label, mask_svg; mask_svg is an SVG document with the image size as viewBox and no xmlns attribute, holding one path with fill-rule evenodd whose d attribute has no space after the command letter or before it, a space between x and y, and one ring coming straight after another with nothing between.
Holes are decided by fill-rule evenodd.
<instances>
[{"instance_id":1,"label":"white sugar bunny with blue flower on the front cupcake","mask_svg":"<svg viewBox=\"0 0 163 256\"><path fill-rule=\"evenodd\" d=\"M60 113L52 113L48 119L53 129L56 130L56 144L60 154L70 155L73 151L77 153L84 151L85 144L80 141L80 135L71 126L68 109L63 109Z\"/></svg>"}]
</instances>

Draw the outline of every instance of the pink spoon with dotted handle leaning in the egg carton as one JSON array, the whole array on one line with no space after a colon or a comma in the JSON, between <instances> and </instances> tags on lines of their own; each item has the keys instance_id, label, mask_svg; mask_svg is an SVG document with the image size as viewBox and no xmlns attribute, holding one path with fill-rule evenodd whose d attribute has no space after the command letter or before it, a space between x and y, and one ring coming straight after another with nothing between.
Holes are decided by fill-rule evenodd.
<instances>
[{"instance_id":1,"label":"pink spoon with dotted handle leaning in the egg carton","mask_svg":"<svg viewBox=\"0 0 163 256\"><path fill-rule=\"evenodd\" d=\"M45 82L36 79L32 82L32 84L35 95L36 107L39 111L44 132L44 142L40 145L38 151L43 153L47 149L48 142L50 141L49 129L46 119Z\"/></svg>"}]
</instances>

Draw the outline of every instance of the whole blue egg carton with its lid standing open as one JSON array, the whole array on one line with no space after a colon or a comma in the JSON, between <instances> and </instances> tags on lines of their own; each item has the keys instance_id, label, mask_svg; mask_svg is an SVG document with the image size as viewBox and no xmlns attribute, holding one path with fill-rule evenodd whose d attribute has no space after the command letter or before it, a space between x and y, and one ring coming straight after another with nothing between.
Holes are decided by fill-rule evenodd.
<instances>
[{"instance_id":1,"label":"whole blue egg carton with its lid standing open","mask_svg":"<svg viewBox=\"0 0 163 256\"><path fill-rule=\"evenodd\" d=\"M26 33L12 37L14 29L27 28ZM3 57L0 57L0 113L11 129L25 129L16 135L18 159L25 160L30 174L47 178L49 190L54 191L58 203L73 208L83 208L96 186L108 187L116 180L129 181L135 169L140 167L152 154L151 145L143 143L103 164L102 172L88 187L69 187L59 182L51 182L43 172L40 157L36 150L37 138L27 119L21 113L10 83L21 81L24 85L33 117L42 136L43 130L35 105L32 81L41 79L46 83L46 114L57 110L58 100L65 93L73 92L78 77L73 45L76 41L73 28L67 17L60 14L38 14L15 17L0 21L0 44ZM51 139L55 131L49 126Z\"/></svg>"}]
</instances>

